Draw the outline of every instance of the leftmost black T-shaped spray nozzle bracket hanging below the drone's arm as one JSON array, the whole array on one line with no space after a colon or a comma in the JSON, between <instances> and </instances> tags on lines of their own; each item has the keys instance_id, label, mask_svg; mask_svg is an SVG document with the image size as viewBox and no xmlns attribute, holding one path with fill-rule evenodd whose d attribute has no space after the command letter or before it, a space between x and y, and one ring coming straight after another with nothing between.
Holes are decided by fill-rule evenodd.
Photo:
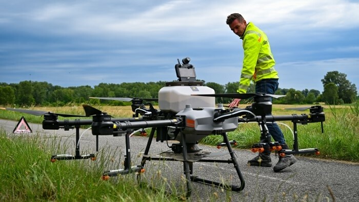
<instances>
[{"instance_id":1,"label":"leftmost black T-shaped spray nozzle bracket hanging below the drone's arm","mask_svg":"<svg viewBox=\"0 0 359 202\"><path fill-rule=\"evenodd\" d=\"M56 160L74 160L74 159L88 159L91 158L91 160L96 160L95 154L86 154L81 155L80 154L80 145L79 145L79 125L76 125L76 149L75 149L75 155L70 154L57 154L51 156L51 162L54 163ZM69 130L73 127L65 127L65 130ZM98 151L98 135L96 135L96 151Z\"/></svg>"}]
</instances>

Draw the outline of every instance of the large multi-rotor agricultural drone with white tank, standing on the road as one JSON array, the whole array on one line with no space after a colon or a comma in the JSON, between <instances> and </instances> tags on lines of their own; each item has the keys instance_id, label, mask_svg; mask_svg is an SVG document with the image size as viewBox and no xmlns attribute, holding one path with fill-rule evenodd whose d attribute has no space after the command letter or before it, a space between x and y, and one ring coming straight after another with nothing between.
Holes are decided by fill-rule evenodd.
<instances>
[{"instance_id":1,"label":"large multi-rotor agricultural drone with white tank, standing on the road","mask_svg":"<svg viewBox=\"0 0 359 202\"><path fill-rule=\"evenodd\" d=\"M189 57L182 59L182 63L179 59L177 59L177 62L175 65L177 81L166 83L166 86L158 91L158 99L91 97L132 102L131 106L134 114L131 118L113 118L106 112L97 110L89 105L83 106L86 116L92 116L92 119L89 120L57 120L57 116L77 117L82 115L56 114L42 111L35 113L31 110L6 109L34 115L44 115L44 129L58 130L59 128L63 128L69 130L70 128L76 128L76 154L54 155L51 157L52 160L95 158L94 154L79 154L79 127L82 125L91 125L92 134L96 136L96 151L98 150L98 136L125 135L126 154L124 168L104 172L102 176L103 179L133 172L141 173L144 171L146 162L149 160L181 161L183 162L184 174L187 179L187 197L191 195L191 181L229 188L232 191L241 191L244 189L245 180L232 149L232 145L236 145L236 141L229 140L227 136L227 132L237 129L238 123L258 123L260 126L261 140L258 144L253 145L251 148L253 152L263 152L263 147L269 145L271 150L276 151L281 156L285 154L319 153L317 148L298 149L297 124L323 124L325 121L323 107L313 106L310 108L309 114L267 115L272 111L271 99L284 95L264 93L215 94L214 90L204 86L203 82L196 81L195 70L193 65L189 64ZM226 109L223 104L218 104L218 107L215 107L215 97L253 98L254 102L245 109ZM151 103L144 103L144 101L157 101L159 109L155 109ZM277 142L271 142L271 135L268 132L266 124L284 120L289 120L293 123L293 150L282 149ZM144 131L146 128L151 128L151 132L141 160L141 165L131 166L130 134L133 133L134 130L142 129ZM152 156L149 153L155 133L156 142L166 142L166 145L170 148L170 151L160 153L159 157L157 157L157 155ZM225 146L228 152L209 152L200 149L198 142L208 135L222 135L223 143L218 143L217 147ZM168 145L168 140L177 140L177 142ZM208 159L210 157L227 154L231 157L228 160ZM197 161L233 164L241 184L225 185L217 181L194 176L193 163Z\"/></svg>"}]
</instances>

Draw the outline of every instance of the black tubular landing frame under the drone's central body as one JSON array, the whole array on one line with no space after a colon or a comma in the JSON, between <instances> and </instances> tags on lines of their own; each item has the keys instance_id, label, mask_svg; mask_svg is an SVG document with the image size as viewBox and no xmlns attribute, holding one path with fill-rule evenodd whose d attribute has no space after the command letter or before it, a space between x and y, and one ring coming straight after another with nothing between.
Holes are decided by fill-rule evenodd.
<instances>
[{"instance_id":1,"label":"black tubular landing frame under the drone's central body","mask_svg":"<svg viewBox=\"0 0 359 202\"><path fill-rule=\"evenodd\" d=\"M145 149L145 153L144 156L142 158L142 167L145 166L146 161L147 160L171 160L171 161L183 161L183 170L184 170L184 174L186 176L186 184L187 184L187 192L186 192L186 197L190 197L191 193L192 193L192 185L191 185L191 181L196 181L198 183L203 183L203 184L208 184L208 185L214 185L217 187L222 187L225 189L231 189L232 191L242 191L245 187L245 181L244 181L244 177L241 173L240 167L238 166L238 162L237 159L235 157L235 154L232 150L231 147L231 142L228 140L228 136L227 133L222 133L224 142L228 148L229 154L231 156L231 159L229 160L214 160L214 159L196 159L196 160L190 160L187 159L188 158L188 150L187 150L187 145L186 144L182 144L182 153L183 153L183 160L179 160L179 159L174 159L174 158L166 158L166 157L161 157L161 158L155 158L155 157L149 157L148 153L150 150L150 146L152 143L152 139L153 139L153 135L155 132L156 128L152 128L150 136L148 138L148 143ZM181 142L182 143L186 143L186 135L183 134L181 132ZM216 181L212 181L212 180L207 180L207 179L202 179L199 178L197 176L192 175L193 174L193 161L200 161L200 162L211 162L211 163L232 163L234 165L234 168L238 174L238 177L240 178L241 181L241 186L237 186L237 185L226 185L223 183L218 183Z\"/></svg>"}]
</instances>

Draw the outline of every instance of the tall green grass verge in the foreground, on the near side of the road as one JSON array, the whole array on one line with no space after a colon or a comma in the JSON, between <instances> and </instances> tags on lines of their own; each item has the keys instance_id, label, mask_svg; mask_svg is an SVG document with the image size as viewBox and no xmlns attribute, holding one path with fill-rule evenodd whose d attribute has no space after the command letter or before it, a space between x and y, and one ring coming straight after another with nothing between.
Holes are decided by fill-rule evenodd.
<instances>
[{"instance_id":1,"label":"tall green grass verge in the foreground, on the near side of the road","mask_svg":"<svg viewBox=\"0 0 359 202\"><path fill-rule=\"evenodd\" d=\"M138 183L135 173L111 177L110 180L104 181L101 179L104 170L122 167L119 163L121 158L116 159L123 155L117 149L102 149L96 154L95 161L58 160L51 163L51 154L67 153L66 151L70 150L67 143L61 143L54 137L45 138L39 133L6 134L2 128L0 128L0 149L2 151L0 201L191 201L192 199L232 201L233 199L233 192L213 186L208 186L208 195L192 192L191 198L185 198L186 180L182 177L179 183L173 184L170 179L165 178L161 174L163 167L161 161L146 166L146 173L149 174L142 174L142 186ZM226 181L222 179L223 183ZM153 190L149 186L156 189ZM260 186L258 184L258 187ZM283 201L288 199L287 194L292 192L292 189L283 192L282 186L282 184L278 185L277 190L282 191L278 191L274 196L262 195L261 189L258 189L253 191L252 195L247 192L239 197L236 195L234 200ZM167 192L168 190L171 194ZM300 196L293 193L293 195L294 201L308 201L309 198L308 194ZM258 199L254 199L256 197ZM315 201L324 199L321 194L314 197Z\"/></svg>"}]
</instances>

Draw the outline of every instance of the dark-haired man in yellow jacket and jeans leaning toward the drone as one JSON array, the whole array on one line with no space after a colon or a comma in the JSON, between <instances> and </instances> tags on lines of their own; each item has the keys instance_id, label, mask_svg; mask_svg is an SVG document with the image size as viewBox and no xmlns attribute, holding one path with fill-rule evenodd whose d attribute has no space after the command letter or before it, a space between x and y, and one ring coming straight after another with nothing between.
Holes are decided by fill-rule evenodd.
<instances>
[{"instance_id":1,"label":"dark-haired man in yellow jacket and jeans leaning toward the drone","mask_svg":"<svg viewBox=\"0 0 359 202\"><path fill-rule=\"evenodd\" d=\"M270 50L267 35L253 23L245 21L238 13L227 17L227 25L243 40L244 58L238 93L246 93L252 80L256 93L274 94L278 88L278 73L274 69L275 61ZM237 107L241 99L234 99L230 108ZM269 114L268 114L269 115ZM277 124L267 123L268 131L273 139L280 143L283 149L289 149L283 133ZM251 166L271 167L269 146L264 146L265 151L248 161ZM281 171L297 161L293 155L279 157L278 163L273 167L274 172Z\"/></svg>"}]
</instances>

